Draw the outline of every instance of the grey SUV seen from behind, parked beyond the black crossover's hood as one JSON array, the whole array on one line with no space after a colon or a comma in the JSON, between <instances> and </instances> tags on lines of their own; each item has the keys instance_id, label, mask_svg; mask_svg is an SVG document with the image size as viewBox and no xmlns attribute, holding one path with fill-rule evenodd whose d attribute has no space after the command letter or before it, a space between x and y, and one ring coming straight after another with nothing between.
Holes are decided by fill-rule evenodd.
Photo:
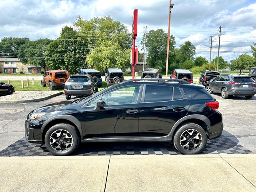
<instances>
[{"instance_id":1,"label":"grey SUV seen from behind, parked beyond the black crossover's hood","mask_svg":"<svg viewBox=\"0 0 256 192\"><path fill-rule=\"evenodd\" d=\"M96 92L98 92L97 83L90 75L72 75L68 78L64 87L66 99L71 99L72 95L89 96Z\"/></svg>"}]
</instances>

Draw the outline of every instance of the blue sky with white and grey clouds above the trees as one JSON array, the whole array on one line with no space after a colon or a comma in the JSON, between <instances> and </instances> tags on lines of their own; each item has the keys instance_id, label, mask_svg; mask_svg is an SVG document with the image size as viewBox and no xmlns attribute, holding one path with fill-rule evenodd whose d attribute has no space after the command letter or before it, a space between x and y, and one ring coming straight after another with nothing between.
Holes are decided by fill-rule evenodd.
<instances>
[{"instance_id":1,"label":"blue sky with white and grey clouds above the trees","mask_svg":"<svg viewBox=\"0 0 256 192\"><path fill-rule=\"evenodd\" d=\"M209 60L209 36L213 36L212 58L217 56L218 30L222 35L220 56L232 60L250 54L256 42L256 0L172 0L171 34L176 47L190 40L196 56ZM131 31L133 9L138 9L136 46L148 30L168 30L169 0L0 0L0 38L6 36L55 39L62 27L80 15L112 16Z\"/></svg>"}]
</instances>

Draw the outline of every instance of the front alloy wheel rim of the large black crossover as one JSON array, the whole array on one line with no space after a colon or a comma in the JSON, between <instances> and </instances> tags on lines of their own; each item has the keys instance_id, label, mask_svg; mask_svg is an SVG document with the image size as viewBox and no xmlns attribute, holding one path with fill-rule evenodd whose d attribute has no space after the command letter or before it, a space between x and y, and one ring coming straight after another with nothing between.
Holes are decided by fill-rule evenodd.
<instances>
[{"instance_id":1,"label":"front alloy wheel rim of the large black crossover","mask_svg":"<svg viewBox=\"0 0 256 192\"><path fill-rule=\"evenodd\" d=\"M73 137L70 132L58 129L54 131L50 136L50 145L51 147L58 151L63 152L71 148L73 144Z\"/></svg>"}]
</instances>

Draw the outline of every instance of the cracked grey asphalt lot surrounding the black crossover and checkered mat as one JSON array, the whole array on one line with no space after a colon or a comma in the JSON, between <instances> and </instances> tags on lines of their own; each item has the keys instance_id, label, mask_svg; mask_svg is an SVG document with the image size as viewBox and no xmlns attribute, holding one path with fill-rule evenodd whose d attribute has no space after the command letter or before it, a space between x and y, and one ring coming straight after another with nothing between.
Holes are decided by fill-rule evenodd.
<instances>
[{"instance_id":1,"label":"cracked grey asphalt lot surrounding the black crossover and checkered mat","mask_svg":"<svg viewBox=\"0 0 256 192\"><path fill-rule=\"evenodd\" d=\"M256 152L256 128L254 126L256 96L252 99L244 97L223 99L220 94L212 94L212 96L220 102L219 111L223 114L222 138L231 139L236 144ZM65 100L64 95L42 102L0 104L0 134L2 138L0 151L24 137L24 121L31 110L62 100ZM86 144L83 146L86 147Z\"/></svg>"}]
</instances>

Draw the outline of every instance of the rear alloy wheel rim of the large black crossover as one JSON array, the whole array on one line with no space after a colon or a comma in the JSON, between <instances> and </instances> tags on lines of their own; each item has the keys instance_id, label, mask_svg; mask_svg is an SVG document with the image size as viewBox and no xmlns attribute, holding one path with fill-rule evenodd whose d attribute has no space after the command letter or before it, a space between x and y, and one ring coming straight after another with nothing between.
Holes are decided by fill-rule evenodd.
<instances>
[{"instance_id":1,"label":"rear alloy wheel rim of the large black crossover","mask_svg":"<svg viewBox=\"0 0 256 192\"><path fill-rule=\"evenodd\" d=\"M194 151L200 148L202 144L202 135L194 129L188 129L182 132L180 136L180 145L188 151Z\"/></svg>"}]
</instances>

